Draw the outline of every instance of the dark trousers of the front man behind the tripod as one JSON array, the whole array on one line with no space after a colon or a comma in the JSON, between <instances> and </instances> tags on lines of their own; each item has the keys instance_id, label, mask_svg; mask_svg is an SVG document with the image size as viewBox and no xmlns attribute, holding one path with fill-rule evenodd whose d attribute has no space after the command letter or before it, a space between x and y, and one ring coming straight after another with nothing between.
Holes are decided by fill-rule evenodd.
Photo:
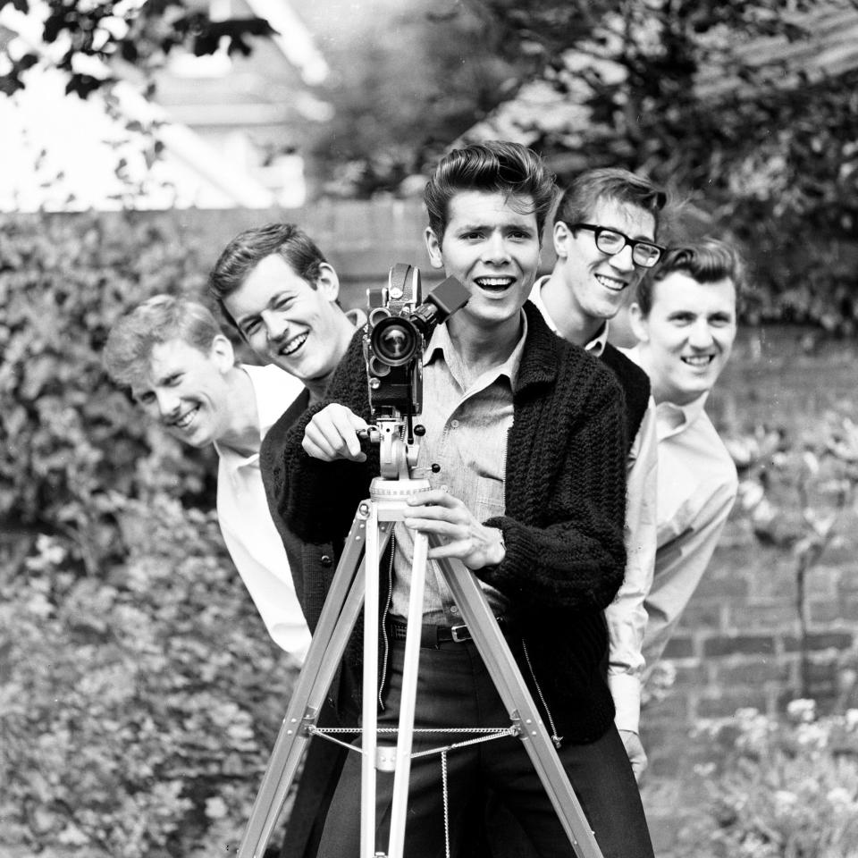
<instances>
[{"instance_id":1,"label":"dark trousers of the front man behind the tripod","mask_svg":"<svg viewBox=\"0 0 858 858\"><path fill-rule=\"evenodd\" d=\"M379 727L396 727L400 711L404 644L393 642L390 691ZM509 726L509 715L473 643L422 649L417 672L416 728ZM474 736L422 735L414 750L438 747ZM652 858L652 843L626 751L613 727L596 742L564 744L559 751L605 858ZM484 796L489 791L524 832L518 854L573 858L575 851L521 740L505 736L472 744L447 755L451 854L470 858L482 840ZM392 803L392 773L379 772L376 795L376 848L387 850ZM349 858L360 852L360 755L349 753L324 828L319 858ZM405 854L439 858L445 854L442 761L438 754L411 761ZM502 830L502 829L501 829ZM492 853L517 854L490 829ZM497 841L497 842L492 842ZM526 843L529 841L529 843Z\"/></svg>"}]
</instances>

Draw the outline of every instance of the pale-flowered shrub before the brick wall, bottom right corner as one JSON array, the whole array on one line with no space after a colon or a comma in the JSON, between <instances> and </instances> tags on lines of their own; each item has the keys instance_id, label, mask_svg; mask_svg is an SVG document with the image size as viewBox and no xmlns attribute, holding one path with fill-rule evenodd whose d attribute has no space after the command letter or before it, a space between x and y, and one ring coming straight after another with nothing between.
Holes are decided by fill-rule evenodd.
<instances>
[{"instance_id":1,"label":"pale-flowered shrub before the brick wall, bottom right corner","mask_svg":"<svg viewBox=\"0 0 858 858\"><path fill-rule=\"evenodd\" d=\"M795 700L784 719L747 709L701 725L721 761L702 767L709 819L686 832L695 858L846 858L858 844L858 710L817 717Z\"/></svg>"}]
</instances>

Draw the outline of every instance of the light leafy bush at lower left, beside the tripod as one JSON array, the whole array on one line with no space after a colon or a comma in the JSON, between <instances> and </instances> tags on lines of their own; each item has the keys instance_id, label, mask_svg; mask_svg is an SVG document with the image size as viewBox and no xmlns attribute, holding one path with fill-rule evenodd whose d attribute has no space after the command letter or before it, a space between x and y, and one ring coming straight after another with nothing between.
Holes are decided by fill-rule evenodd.
<instances>
[{"instance_id":1,"label":"light leafy bush at lower left, beside the tripod","mask_svg":"<svg viewBox=\"0 0 858 858\"><path fill-rule=\"evenodd\" d=\"M129 559L101 579L41 536L27 575L0 584L3 841L86 858L223 854L295 668L212 513L160 493L123 502L120 526Z\"/></svg>"}]
</instances>

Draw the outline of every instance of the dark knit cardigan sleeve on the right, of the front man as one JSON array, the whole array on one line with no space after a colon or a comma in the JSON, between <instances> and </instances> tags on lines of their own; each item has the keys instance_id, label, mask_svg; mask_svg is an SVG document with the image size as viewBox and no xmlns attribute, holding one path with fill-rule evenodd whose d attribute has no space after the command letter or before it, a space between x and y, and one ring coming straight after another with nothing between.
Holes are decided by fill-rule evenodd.
<instances>
[{"instance_id":1,"label":"dark knit cardigan sleeve on the right, of the front man","mask_svg":"<svg viewBox=\"0 0 858 858\"><path fill-rule=\"evenodd\" d=\"M538 514L545 525L523 524L509 503L506 516L485 522L503 531L506 556L497 567L475 574L524 609L603 610L623 581L624 400L612 378L590 387L593 393L580 403L577 416L566 417L571 425L565 442L558 425L564 416L551 407L543 408L534 425L514 426L521 443L510 443L510 455L512 450L517 455L508 464L508 482L535 486L536 492L548 487ZM522 437L528 431L539 438L530 455ZM538 505L534 498L524 503Z\"/></svg>"}]
</instances>

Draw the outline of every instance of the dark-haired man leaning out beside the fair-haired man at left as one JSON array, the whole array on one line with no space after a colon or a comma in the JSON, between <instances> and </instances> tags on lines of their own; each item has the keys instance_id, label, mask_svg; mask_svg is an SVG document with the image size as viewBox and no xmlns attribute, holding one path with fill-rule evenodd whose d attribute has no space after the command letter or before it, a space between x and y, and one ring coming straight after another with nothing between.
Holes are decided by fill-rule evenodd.
<instances>
[{"instance_id":1,"label":"dark-haired man leaning out beside the fair-haired man at left","mask_svg":"<svg viewBox=\"0 0 858 858\"><path fill-rule=\"evenodd\" d=\"M240 232L223 248L208 285L214 302L250 349L263 363L273 365L266 371L273 372L274 366L279 366L285 377L304 385L270 426L265 435L268 443L259 450L258 470L265 484L271 467L266 451L276 447L294 420L321 399L355 328L364 320L362 314L343 311L336 271L315 241L294 223L266 223ZM268 403L269 410L271 407ZM253 514L249 509L242 512ZM303 568L305 551L312 551L311 560L315 559L315 546L300 543L280 517L272 518L290 569ZM300 589L304 577L297 574L292 580L306 618L305 594ZM318 723L344 726L327 703ZM315 858L344 753L332 743L310 744L283 837L282 858Z\"/></svg>"}]
</instances>

